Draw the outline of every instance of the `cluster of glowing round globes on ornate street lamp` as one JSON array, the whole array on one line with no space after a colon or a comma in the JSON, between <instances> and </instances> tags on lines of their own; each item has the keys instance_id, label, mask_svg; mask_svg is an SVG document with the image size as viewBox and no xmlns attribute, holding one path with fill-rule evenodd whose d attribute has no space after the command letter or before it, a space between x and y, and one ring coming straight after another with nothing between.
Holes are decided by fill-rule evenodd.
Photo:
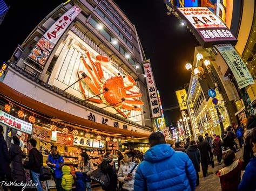
<instances>
[{"instance_id":1,"label":"cluster of glowing round globes on ornate street lamp","mask_svg":"<svg viewBox=\"0 0 256 191\"><path fill-rule=\"evenodd\" d=\"M211 70L211 62L210 60L205 59L204 56L200 53L197 54L197 60L201 63L201 66L192 66L191 63L186 63L185 68L191 72L193 76L199 76L200 80L202 77L205 79L205 74L210 74Z\"/></svg>"}]
</instances>

